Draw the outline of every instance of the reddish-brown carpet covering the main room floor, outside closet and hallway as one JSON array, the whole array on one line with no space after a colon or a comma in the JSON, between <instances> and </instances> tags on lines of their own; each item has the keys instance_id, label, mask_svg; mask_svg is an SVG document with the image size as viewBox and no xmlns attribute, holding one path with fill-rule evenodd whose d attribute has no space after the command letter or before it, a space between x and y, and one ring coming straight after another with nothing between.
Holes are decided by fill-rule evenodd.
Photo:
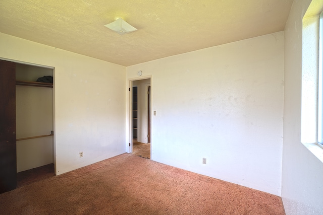
<instances>
[{"instance_id":1,"label":"reddish-brown carpet covering the main room floor, outside closet and hallway","mask_svg":"<svg viewBox=\"0 0 323 215\"><path fill-rule=\"evenodd\" d=\"M122 154L0 194L1 214L285 214L279 196Z\"/></svg>"}]
</instances>

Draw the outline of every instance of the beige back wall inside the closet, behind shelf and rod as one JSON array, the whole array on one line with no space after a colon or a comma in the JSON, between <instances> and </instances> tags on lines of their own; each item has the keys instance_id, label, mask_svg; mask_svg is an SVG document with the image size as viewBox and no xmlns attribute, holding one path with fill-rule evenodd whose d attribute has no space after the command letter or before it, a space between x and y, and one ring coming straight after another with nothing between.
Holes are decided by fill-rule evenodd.
<instances>
[{"instance_id":1,"label":"beige back wall inside the closet, behind shelf and rod","mask_svg":"<svg viewBox=\"0 0 323 215\"><path fill-rule=\"evenodd\" d=\"M53 70L16 63L16 80L36 81ZM53 130L52 88L16 86L17 139ZM17 141L17 172L53 163L53 136Z\"/></svg>"}]
</instances>

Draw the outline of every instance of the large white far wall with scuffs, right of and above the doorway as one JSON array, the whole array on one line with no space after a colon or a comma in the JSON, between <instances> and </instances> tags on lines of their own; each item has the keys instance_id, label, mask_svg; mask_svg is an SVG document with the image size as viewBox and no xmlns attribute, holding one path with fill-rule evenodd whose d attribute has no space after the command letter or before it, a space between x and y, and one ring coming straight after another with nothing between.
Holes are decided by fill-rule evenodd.
<instances>
[{"instance_id":1,"label":"large white far wall with scuffs, right of and above the doorway","mask_svg":"<svg viewBox=\"0 0 323 215\"><path fill-rule=\"evenodd\" d=\"M152 160L281 195L284 32L128 66L127 79L138 70Z\"/></svg>"}]
</instances>

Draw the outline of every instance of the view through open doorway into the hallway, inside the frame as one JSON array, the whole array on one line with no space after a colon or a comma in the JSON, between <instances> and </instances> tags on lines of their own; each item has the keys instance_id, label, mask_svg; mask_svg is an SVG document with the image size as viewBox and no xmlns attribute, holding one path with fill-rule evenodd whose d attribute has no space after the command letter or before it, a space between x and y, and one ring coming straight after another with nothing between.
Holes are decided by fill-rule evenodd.
<instances>
[{"instance_id":1,"label":"view through open doorway into the hallway, inside the frame","mask_svg":"<svg viewBox=\"0 0 323 215\"><path fill-rule=\"evenodd\" d=\"M150 159L150 79L132 81L132 153Z\"/></svg>"}]
</instances>

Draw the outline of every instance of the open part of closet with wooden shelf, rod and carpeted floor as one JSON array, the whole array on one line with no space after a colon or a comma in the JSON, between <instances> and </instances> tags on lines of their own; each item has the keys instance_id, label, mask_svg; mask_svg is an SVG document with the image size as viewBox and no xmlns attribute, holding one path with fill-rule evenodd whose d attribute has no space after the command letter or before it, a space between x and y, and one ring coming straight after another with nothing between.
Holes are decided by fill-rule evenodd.
<instances>
[{"instance_id":1,"label":"open part of closet with wooden shelf, rod and carpeted floor","mask_svg":"<svg viewBox=\"0 0 323 215\"><path fill-rule=\"evenodd\" d=\"M53 68L16 63L17 187L55 176Z\"/></svg>"}]
</instances>

